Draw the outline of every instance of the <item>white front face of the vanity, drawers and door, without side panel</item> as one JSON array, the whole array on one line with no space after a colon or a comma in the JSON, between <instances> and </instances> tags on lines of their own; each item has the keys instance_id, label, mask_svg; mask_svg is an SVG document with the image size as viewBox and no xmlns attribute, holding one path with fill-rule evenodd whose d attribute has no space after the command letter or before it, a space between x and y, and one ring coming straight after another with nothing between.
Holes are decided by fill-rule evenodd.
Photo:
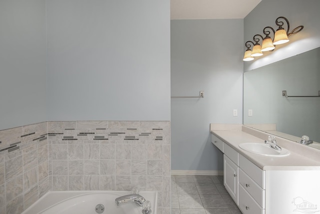
<instances>
[{"instance_id":1,"label":"white front face of the vanity, drawers and door, without side panel","mask_svg":"<svg viewBox=\"0 0 320 214\"><path fill-rule=\"evenodd\" d=\"M265 214L265 171L211 134L223 152L223 184L244 214ZM218 145L218 146L217 146Z\"/></svg>"}]
</instances>

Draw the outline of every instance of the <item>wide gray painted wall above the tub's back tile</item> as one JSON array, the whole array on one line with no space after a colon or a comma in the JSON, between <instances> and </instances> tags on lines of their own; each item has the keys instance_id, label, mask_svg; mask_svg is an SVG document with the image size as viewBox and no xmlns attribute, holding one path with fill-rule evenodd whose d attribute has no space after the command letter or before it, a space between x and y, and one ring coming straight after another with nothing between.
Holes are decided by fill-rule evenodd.
<instances>
[{"instance_id":1,"label":"wide gray painted wall above the tub's back tile","mask_svg":"<svg viewBox=\"0 0 320 214\"><path fill-rule=\"evenodd\" d=\"M170 120L169 7L47 1L48 120Z\"/></svg>"}]
</instances>

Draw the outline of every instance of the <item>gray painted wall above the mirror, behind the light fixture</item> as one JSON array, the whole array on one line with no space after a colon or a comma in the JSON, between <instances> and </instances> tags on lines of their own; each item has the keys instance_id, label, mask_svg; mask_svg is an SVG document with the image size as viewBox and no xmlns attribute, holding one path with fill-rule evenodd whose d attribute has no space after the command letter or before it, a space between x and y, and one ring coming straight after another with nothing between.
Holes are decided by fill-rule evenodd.
<instances>
[{"instance_id":1,"label":"gray painted wall above the mirror, behind the light fixture","mask_svg":"<svg viewBox=\"0 0 320 214\"><path fill-rule=\"evenodd\" d=\"M320 1L318 0L263 0L244 18L244 43L252 41L255 34L263 35L263 28L275 25L276 18L288 19L290 30L303 25L304 29L289 37L290 42L277 45L275 51L267 52L256 60L245 62L244 71L249 71L282 59L320 47ZM286 28L286 24L285 29ZM273 35L271 36L273 38ZM261 43L260 43L261 44ZM260 59L260 60L257 60Z\"/></svg>"}]
</instances>

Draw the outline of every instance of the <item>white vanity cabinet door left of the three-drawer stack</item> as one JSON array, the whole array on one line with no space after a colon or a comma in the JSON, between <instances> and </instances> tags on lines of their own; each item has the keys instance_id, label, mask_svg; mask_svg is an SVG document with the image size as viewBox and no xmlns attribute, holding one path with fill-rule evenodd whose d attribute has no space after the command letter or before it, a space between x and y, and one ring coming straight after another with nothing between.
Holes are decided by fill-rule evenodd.
<instances>
[{"instance_id":1,"label":"white vanity cabinet door left of the three-drawer stack","mask_svg":"<svg viewBox=\"0 0 320 214\"><path fill-rule=\"evenodd\" d=\"M236 205L238 205L238 166L223 155L223 184Z\"/></svg>"}]
</instances>

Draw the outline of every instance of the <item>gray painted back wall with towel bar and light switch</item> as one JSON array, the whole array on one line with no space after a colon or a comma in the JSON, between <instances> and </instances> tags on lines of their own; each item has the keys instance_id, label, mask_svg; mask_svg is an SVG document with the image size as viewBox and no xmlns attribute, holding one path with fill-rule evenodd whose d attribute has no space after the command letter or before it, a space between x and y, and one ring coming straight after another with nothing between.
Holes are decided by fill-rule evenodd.
<instances>
[{"instance_id":1,"label":"gray painted back wall with towel bar and light switch","mask_svg":"<svg viewBox=\"0 0 320 214\"><path fill-rule=\"evenodd\" d=\"M242 123L243 20L171 21L171 169L221 170L210 123ZM233 117L233 109L238 116Z\"/></svg>"}]
</instances>

